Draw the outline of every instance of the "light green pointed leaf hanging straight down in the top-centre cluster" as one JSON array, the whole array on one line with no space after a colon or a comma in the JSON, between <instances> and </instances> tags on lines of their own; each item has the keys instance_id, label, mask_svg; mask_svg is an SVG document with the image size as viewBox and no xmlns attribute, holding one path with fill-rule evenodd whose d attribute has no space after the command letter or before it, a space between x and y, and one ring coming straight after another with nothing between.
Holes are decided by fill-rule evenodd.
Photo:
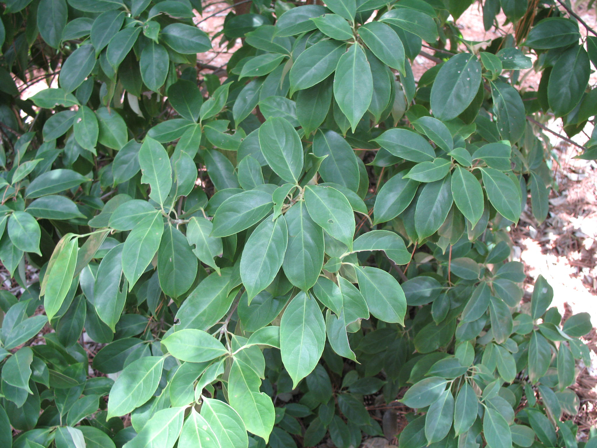
<instances>
[{"instance_id":1,"label":"light green pointed leaf hanging straight down in the top-centre cluster","mask_svg":"<svg viewBox=\"0 0 597 448\"><path fill-rule=\"evenodd\" d=\"M352 45L338 60L334 75L334 99L348 118L353 132L367 112L372 96L373 78L369 62L361 46Z\"/></svg>"}]
</instances>

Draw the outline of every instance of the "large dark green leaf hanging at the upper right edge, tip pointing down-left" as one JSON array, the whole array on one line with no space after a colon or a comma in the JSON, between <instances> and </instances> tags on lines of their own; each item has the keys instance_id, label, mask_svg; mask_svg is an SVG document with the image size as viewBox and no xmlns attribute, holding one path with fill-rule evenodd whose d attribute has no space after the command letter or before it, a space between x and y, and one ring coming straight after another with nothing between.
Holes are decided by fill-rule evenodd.
<instances>
[{"instance_id":1,"label":"large dark green leaf hanging at the upper right edge, tip pointing down-left","mask_svg":"<svg viewBox=\"0 0 597 448\"><path fill-rule=\"evenodd\" d=\"M547 99L556 116L564 116L580 103L590 74L589 56L582 45L558 57L549 75Z\"/></svg>"}]
</instances>

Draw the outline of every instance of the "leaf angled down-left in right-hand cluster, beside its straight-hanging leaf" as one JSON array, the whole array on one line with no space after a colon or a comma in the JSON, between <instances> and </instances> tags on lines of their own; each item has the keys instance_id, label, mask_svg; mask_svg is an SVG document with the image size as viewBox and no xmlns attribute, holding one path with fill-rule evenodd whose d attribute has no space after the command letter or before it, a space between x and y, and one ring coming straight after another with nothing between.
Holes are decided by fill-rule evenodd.
<instances>
[{"instance_id":1,"label":"leaf angled down-left in right-hand cluster, beside its straight-hanging leaf","mask_svg":"<svg viewBox=\"0 0 597 448\"><path fill-rule=\"evenodd\" d=\"M451 176L448 174L444 179L423 187L414 214L414 225L421 240L433 235L448 216L453 202L450 184Z\"/></svg>"}]
</instances>

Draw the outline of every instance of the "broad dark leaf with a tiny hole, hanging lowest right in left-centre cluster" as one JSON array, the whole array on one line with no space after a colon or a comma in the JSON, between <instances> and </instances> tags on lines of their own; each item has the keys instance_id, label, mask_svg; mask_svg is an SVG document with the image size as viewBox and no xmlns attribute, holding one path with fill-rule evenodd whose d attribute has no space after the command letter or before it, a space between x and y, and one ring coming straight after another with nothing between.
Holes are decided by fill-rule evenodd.
<instances>
[{"instance_id":1,"label":"broad dark leaf with a tiny hole, hanging lowest right in left-centre cluster","mask_svg":"<svg viewBox=\"0 0 597 448\"><path fill-rule=\"evenodd\" d=\"M168 225L158 248L159 286L164 294L179 297L197 276L197 257L179 229Z\"/></svg>"}]
</instances>

